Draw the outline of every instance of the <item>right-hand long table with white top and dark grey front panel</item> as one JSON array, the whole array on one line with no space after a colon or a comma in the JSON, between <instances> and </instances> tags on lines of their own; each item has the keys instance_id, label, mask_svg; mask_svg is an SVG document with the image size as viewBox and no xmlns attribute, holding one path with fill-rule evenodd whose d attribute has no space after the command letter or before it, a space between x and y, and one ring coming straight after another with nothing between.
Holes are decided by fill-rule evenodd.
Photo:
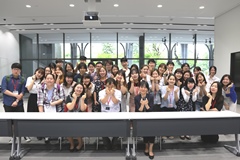
<instances>
[{"instance_id":1,"label":"right-hand long table with white top and dark grey front panel","mask_svg":"<svg viewBox=\"0 0 240 160\"><path fill-rule=\"evenodd\" d=\"M234 112L135 113L131 120L134 137L235 134L236 146L225 145L225 148L237 156L240 155L238 141L240 115ZM133 150L133 156L135 155Z\"/></svg>"}]
</instances>

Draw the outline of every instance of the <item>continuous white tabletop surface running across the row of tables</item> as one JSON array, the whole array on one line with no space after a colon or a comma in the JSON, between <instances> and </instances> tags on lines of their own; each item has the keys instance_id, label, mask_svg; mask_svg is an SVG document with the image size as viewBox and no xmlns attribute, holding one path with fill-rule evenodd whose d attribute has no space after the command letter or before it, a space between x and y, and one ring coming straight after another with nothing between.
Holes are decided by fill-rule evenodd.
<instances>
[{"instance_id":1,"label":"continuous white tabletop surface running across the row of tables","mask_svg":"<svg viewBox=\"0 0 240 160\"><path fill-rule=\"evenodd\" d=\"M126 119L240 118L231 111L211 112L74 112L74 113L0 113L0 119L20 120L126 120Z\"/></svg>"}]
</instances>

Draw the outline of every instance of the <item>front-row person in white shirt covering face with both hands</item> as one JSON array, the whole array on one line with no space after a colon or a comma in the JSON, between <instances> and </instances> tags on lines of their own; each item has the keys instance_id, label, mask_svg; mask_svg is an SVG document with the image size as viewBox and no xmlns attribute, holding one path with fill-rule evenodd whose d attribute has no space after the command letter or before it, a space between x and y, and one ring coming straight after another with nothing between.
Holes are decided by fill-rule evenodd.
<instances>
[{"instance_id":1,"label":"front-row person in white shirt covering face with both hands","mask_svg":"<svg viewBox=\"0 0 240 160\"><path fill-rule=\"evenodd\" d=\"M101 103L102 112L120 112L120 104L122 100L121 91L116 89L116 81L108 78L106 88L99 92L99 101ZM106 149L116 149L118 137L113 137L112 141L109 137L103 137L103 144Z\"/></svg>"}]
</instances>

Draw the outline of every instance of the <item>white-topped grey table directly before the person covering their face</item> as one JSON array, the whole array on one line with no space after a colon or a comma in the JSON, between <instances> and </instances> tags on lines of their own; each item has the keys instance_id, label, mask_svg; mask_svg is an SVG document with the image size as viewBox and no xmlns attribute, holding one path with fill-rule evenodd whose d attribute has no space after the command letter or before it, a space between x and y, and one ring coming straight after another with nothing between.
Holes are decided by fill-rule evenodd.
<instances>
[{"instance_id":1,"label":"white-topped grey table directly before the person covering their face","mask_svg":"<svg viewBox=\"0 0 240 160\"><path fill-rule=\"evenodd\" d=\"M130 137L129 117L119 113L11 113L5 118L14 124L13 139L18 137L17 160L22 158L21 137Z\"/></svg>"}]
</instances>

